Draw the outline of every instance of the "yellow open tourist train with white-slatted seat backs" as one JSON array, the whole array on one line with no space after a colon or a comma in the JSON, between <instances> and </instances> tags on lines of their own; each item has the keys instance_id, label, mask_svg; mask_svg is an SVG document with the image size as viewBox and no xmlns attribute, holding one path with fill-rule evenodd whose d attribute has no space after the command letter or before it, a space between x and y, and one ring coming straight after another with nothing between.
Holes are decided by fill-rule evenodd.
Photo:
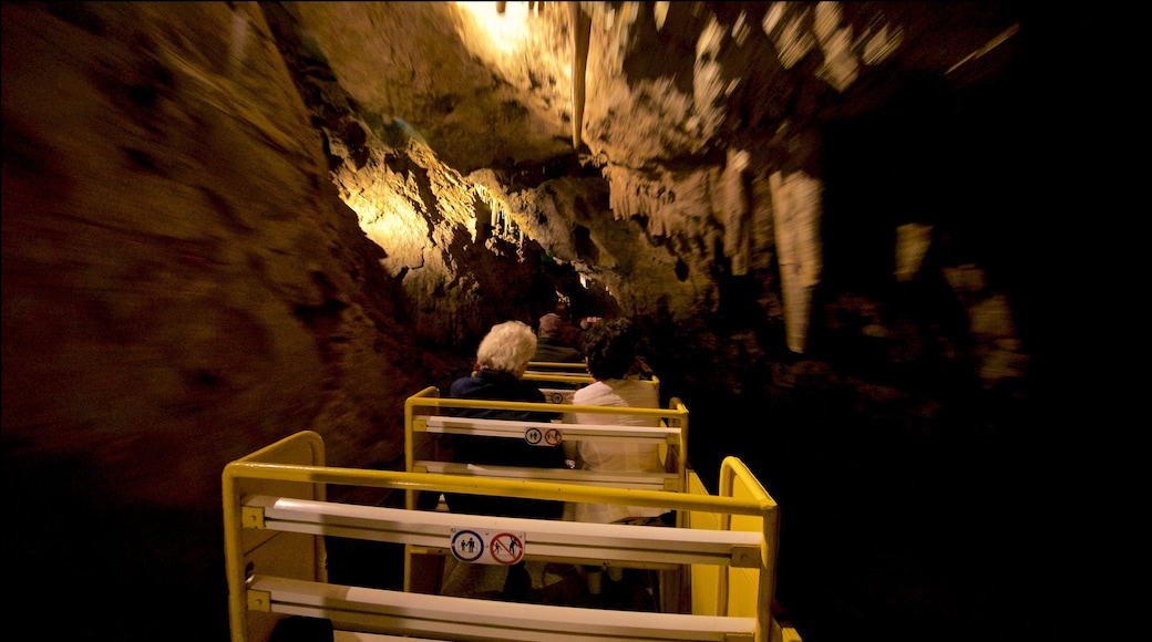
<instances>
[{"instance_id":1,"label":"yellow open tourist train with white-slatted seat backs","mask_svg":"<svg viewBox=\"0 0 1152 642\"><path fill-rule=\"evenodd\" d=\"M225 467L233 642L270 642L281 620L293 617L327 620L338 642L799 640L773 598L776 503L735 457L721 464L717 492L705 488L688 466L688 408L679 399L667 408L564 408L639 414L657 418L658 427L450 416L448 410L458 407L556 411L552 403L448 399L427 388L406 403L402 472L327 466L324 442L313 431ZM666 471L454 465L438 457L437 443L455 434L655 441ZM334 486L402 494L403 507L329 502ZM674 511L675 527L473 515L447 512L442 504L420 510L422 492L665 507ZM403 590L329 583L325 543L331 537L402 545ZM650 570L658 578L655 609L558 606L441 591L447 566L520 560Z\"/></svg>"}]
</instances>

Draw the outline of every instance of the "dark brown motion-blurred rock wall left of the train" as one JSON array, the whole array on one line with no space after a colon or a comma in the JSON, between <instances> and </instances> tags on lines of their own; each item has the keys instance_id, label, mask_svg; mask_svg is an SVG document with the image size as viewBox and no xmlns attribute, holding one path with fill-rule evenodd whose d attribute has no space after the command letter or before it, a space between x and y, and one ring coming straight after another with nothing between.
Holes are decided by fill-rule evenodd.
<instances>
[{"instance_id":1,"label":"dark brown motion-blurred rock wall left of the train","mask_svg":"<svg viewBox=\"0 0 1152 642\"><path fill-rule=\"evenodd\" d=\"M223 465L312 429L393 466L402 399L449 370L255 3L5 3L2 43L14 612L223 640Z\"/></svg>"}]
</instances>

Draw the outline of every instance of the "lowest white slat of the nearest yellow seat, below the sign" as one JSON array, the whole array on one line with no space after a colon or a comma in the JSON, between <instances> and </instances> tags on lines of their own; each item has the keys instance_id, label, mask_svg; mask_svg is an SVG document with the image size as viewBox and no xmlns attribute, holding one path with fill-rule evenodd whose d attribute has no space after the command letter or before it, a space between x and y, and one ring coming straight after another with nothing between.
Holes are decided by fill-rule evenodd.
<instances>
[{"instance_id":1,"label":"lowest white slat of the nearest yellow seat, below the sign","mask_svg":"<svg viewBox=\"0 0 1152 642\"><path fill-rule=\"evenodd\" d=\"M470 599L256 575L249 590L271 597L271 611L331 619L366 633L453 640L585 642L751 639L755 618L614 611Z\"/></svg>"}]
</instances>

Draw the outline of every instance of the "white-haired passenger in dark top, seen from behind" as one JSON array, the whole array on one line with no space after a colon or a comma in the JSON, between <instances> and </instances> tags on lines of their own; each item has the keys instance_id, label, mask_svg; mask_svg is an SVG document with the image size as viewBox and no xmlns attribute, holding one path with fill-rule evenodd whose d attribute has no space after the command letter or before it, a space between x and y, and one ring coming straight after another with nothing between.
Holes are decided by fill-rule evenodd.
<instances>
[{"instance_id":1,"label":"white-haired passenger in dark top, seen from behind","mask_svg":"<svg viewBox=\"0 0 1152 642\"><path fill-rule=\"evenodd\" d=\"M536 334L525 323L506 321L493 326L476 352L476 372L454 381L448 388L448 396L455 399L546 403L540 389L522 379L535 352ZM487 408L446 408L446 412L456 416L516 421L552 421L561 416L553 412ZM562 446L531 445L523 438L452 435L452 451L453 461L457 464L568 467ZM560 519L563 515L562 502L543 499L446 492L445 502L454 513L532 519ZM523 599L530 586L531 579L523 560L508 567L505 597Z\"/></svg>"}]
</instances>

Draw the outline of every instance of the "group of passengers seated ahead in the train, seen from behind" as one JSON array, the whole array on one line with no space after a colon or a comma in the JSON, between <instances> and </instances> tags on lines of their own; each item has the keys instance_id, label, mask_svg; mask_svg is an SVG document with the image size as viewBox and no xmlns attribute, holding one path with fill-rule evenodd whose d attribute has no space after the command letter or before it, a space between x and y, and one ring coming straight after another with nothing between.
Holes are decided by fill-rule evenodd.
<instances>
[{"instance_id":1,"label":"group of passengers seated ahead in the train, seen from behind","mask_svg":"<svg viewBox=\"0 0 1152 642\"><path fill-rule=\"evenodd\" d=\"M524 380L530 361L584 360L593 382L575 391L574 405L659 407L655 387L636 375L639 330L623 318L589 320L581 329L558 313L540 319L537 333L521 322L506 321L494 326L480 342L476 369L457 379L448 396L460 399L545 403L544 393ZM458 408L455 412L475 418L520 421L563 419L576 423L612 423L657 426L655 418L568 413L543 411L494 411ZM453 461L473 465L529 466L538 468L579 468L585 471L664 472L657 446L628 442L578 441L555 446L529 445L523 440L501 437L453 436ZM533 519L570 519L598 523L669 523L665 510L644 506L607 504L573 504L511 497L446 494L448 510L460 513ZM601 567L585 567L590 593L599 594ZM620 568L609 567L613 580ZM522 599L530 587L523 563L508 568L505 596Z\"/></svg>"}]
</instances>

